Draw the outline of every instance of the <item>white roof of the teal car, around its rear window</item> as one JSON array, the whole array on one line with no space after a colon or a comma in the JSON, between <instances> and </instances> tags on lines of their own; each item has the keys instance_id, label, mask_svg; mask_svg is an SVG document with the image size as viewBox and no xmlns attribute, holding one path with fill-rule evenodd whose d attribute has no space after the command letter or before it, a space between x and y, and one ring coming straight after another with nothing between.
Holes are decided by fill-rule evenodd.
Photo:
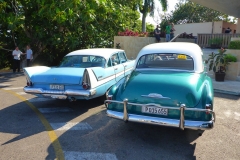
<instances>
[{"instance_id":1,"label":"white roof of the teal car, around its rear window","mask_svg":"<svg viewBox=\"0 0 240 160\"><path fill-rule=\"evenodd\" d=\"M194 71L203 72L204 66L202 61L202 49L195 43L187 42L163 42L163 43L154 43L143 47L135 62L135 68L138 62L138 59L145 54L152 53L176 53L176 54L185 54L193 58L194 61Z\"/></svg>"}]
</instances>

